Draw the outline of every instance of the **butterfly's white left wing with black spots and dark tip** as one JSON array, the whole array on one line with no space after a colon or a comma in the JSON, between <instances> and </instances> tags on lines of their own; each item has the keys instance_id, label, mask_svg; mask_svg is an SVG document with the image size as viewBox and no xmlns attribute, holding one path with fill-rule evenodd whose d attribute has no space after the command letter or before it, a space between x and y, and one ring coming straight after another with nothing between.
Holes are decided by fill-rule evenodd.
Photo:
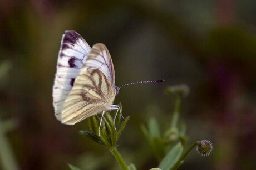
<instances>
[{"instance_id":1,"label":"butterfly's white left wing with black spots and dark tip","mask_svg":"<svg viewBox=\"0 0 256 170\"><path fill-rule=\"evenodd\" d=\"M55 116L58 120L61 120L64 101L70 93L75 78L85 63L90 50L90 45L77 32L67 30L63 34L52 94Z\"/></svg>"}]
</instances>

